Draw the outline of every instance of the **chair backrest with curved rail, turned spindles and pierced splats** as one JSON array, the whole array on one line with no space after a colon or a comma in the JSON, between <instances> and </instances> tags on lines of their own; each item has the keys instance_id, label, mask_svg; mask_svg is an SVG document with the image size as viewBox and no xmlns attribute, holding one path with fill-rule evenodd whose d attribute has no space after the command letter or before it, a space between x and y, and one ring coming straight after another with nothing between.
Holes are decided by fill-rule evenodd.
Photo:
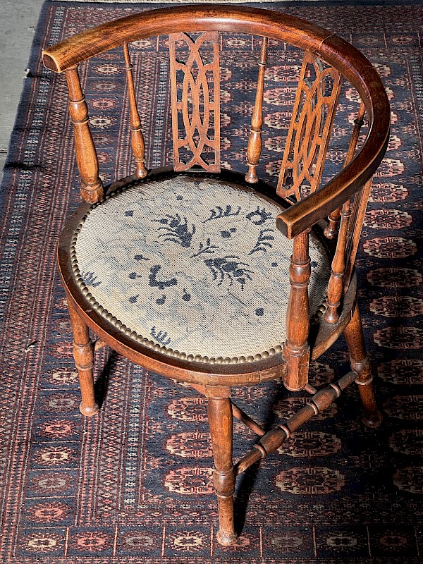
<instances>
[{"instance_id":1,"label":"chair backrest with curved rail, turned spindles and pierced splats","mask_svg":"<svg viewBox=\"0 0 423 564\"><path fill-rule=\"evenodd\" d=\"M185 6L139 13L87 30L46 49L44 64L53 71L66 74L82 199L97 202L104 192L78 75L79 63L109 49L123 47L135 176L143 178L147 175L145 142L129 46L137 39L168 35L173 168L186 171L195 166L219 172L219 32L243 32L262 38L255 104L246 147L245 180L251 184L257 183L257 166L262 151L262 107L269 40L287 42L305 53L276 189L279 196L293 204L278 216L276 223L288 238L294 239L286 328L286 353L293 360L288 368L286 385L298 389L304 386L308 372L309 229L329 216L325 234L329 239L337 238L325 313L326 321L336 324L338 308L353 271L372 175L388 142L388 101L369 61L343 39L298 18L238 6ZM321 186L343 78L355 87L362 102L343 169ZM364 114L368 122L367 138L357 152Z\"/></svg>"}]
</instances>

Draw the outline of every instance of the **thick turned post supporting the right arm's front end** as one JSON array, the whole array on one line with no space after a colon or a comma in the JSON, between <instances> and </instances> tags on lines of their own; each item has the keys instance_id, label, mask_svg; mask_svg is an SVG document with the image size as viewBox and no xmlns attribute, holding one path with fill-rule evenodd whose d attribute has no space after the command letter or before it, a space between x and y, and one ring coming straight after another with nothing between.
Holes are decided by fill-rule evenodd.
<instances>
[{"instance_id":1,"label":"thick turned post supporting the right arm's front end","mask_svg":"<svg viewBox=\"0 0 423 564\"><path fill-rule=\"evenodd\" d=\"M302 390L308 382L310 278L309 229L296 235L290 259L290 295L286 312L286 343L283 357L288 364L283 384L291 391Z\"/></svg>"}]
</instances>

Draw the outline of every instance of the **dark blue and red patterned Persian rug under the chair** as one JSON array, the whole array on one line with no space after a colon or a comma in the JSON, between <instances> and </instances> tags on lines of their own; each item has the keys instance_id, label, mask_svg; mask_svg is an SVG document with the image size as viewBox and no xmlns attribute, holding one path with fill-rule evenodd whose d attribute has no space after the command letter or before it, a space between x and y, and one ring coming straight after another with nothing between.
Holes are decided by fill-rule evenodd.
<instances>
[{"instance_id":1,"label":"dark blue and red patterned Persian rug under the chair","mask_svg":"<svg viewBox=\"0 0 423 564\"><path fill-rule=\"evenodd\" d=\"M267 4L272 9L282 4ZM392 136L376 173L357 259L360 303L384 424L360 421L357 390L295 434L279 455L238 479L236 546L216 544L206 400L111 352L96 358L102 409L78 411L77 374L55 249L78 205L78 174L63 77L42 68L42 47L147 4L47 2L32 47L1 186L1 529L2 563L364 564L422 562L422 139L423 8L419 4L288 4L362 49L391 100ZM400 25L398 23L400 22ZM243 163L259 42L228 34L222 51L223 154ZM149 166L168 161L168 66L164 38L133 44ZM261 173L275 183L280 112L289 111L298 54L269 54ZM141 80L149 74L149 81ZM130 171L123 58L111 51L82 71L102 177ZM154 100L154 104L151 102ZM246 101L247 100L247 101ZM281 106L282 104L282 106ZM348 88L341 114L357 101ZM338 140L348 130L337 130ZM335 140L336 141L336 140ZM128 145L128 144L127 144ZM343 153L331 145L329 159ZM329 171L330 173L330 171ZM420 246L419 246L420 245ZM312 366L314 386L348 370L345 343ZM266 428L304 398L281 384L245 388L238 401ZM235 424L235 457L255 436Z\"/></svg>"}]
</instances>

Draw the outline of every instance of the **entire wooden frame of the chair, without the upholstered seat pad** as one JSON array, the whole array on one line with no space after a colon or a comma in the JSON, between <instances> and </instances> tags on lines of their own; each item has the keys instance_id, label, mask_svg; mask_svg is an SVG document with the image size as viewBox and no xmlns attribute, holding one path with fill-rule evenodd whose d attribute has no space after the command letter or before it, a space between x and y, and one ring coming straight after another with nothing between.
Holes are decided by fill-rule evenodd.
<instances>
[{"instance_id":1,"label":"entire wooden frame of the chair, without the upholstered seat pad","mask_svg":"<svg viewBox=\"0 0 423 564\"><path fill-rule=\"evenodd\" d=\"M200 32L200 35L198 35ZM130 42L145 37L169 36L173 125L173 170L200 166L221 173L219 32L243 32L262 37L258 62L257 90L246 147L247 183L262 185L257 166L262 151L264 76L269 39L287 42L305 51L298 90L283 152L277 194L291 205L276 218L276 226L293 238L290 258L290 295L286 315L286 342L276 354L258 355L242 362L225 359L209 364L188 362L178 354L165 356L161 347L147 339L138 343L130 330L110 328L97 309L87 306L82 278L75 266L69 241L76 240L81 221L91 204L104 197L97 154L90 133L87 104L82 92L78 65L92 56L123 47L130 107L130 143L135 159L136 179L161 178L160 171L145 168L145 141L130 61ZM197 35L196 35L197 34ZM178 44L188 55L178 56ZM202 54L209 44L207 61ZM64 72L69 90L69 111L75 130L75 152L81 176L82 204L66 224L59 244L59 266L68 296L74 332L74 356L82 389L81 411L94 415L98 407L92 382L92 345L87 326L102 341L147 369L188 382L209 398L209 424L214 451L214 485L219 500L221 544L232 544L237 534L233 523L235 476L276 450L290 434L338 398L352 381L360 384L364 422L376 427L381 422L372 389L372 376L364 349L360 314L356 307L353 266L362 230L372 176L388 144L390 111L386 92L373 66L343 39L317 25L277 12L226 5L176 6L138 13L82 32L43 51L44 65ZM194 70L193 70L194 69ZM348 80L362 100L355 119L344 166L326 185L321 176L343 80ZM212 83L212 85L211 85ZM360 129L367 117L367 137L357 149ZM187 156L187 152L189 155ZM230 176L222 171L223 178ZM128 178L109 188L116 190ZM292 197L295 196L295 202ZM324 235L333 240L333 259L327 290L327 308L319 323L310 327L308 286L311 274L309 233L328 216ZM76 276L76 277L75 277ZM86 289L86 288L85 288ZM91 302L94 298L90 298ZM108 318L111 318L111 314ZM113 319L113 318L111 318ZM341 333L350 349L353 372L336 384L317 391L308 382L309 360L324 353ZM135 333L136 334L136 333ZM281 350L282 349L282 350ZM275 352L275 351L274 351ZM178 353L178 351L176 351ZM186 356L186 355L185 355ZM241 357L242 358L242 357ZM223 360L223 359L221 359ZM228 361L228 362L226 362ZM266 432L231 402L231 386L259 384L281 378L291 391L312 394L309 402L277 429ZM235 466L232 462L232 417L238 417L261 439Z\"/></svg>"}]
</instances>

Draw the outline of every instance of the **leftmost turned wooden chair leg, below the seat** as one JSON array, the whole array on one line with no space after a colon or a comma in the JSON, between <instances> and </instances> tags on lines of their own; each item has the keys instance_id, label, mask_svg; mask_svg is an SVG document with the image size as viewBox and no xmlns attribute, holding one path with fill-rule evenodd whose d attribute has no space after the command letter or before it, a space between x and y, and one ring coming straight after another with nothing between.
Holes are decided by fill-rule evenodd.
<instances>
[{"instance_id":1,"label":"leftmost turned wooden chair leg, below the seat","mask_svg":"<svg viewBox=\"0 0 423 564\"><path fill-rule=\"evenodd\" d=\"M69 315L73 330L73 357L78 369L82 401L80 412L92 417L99 406L94 397L94 379L92 376L93 348L87 325L82 321L75 308L68 300Z\"/></svg>"}]
</instances>

